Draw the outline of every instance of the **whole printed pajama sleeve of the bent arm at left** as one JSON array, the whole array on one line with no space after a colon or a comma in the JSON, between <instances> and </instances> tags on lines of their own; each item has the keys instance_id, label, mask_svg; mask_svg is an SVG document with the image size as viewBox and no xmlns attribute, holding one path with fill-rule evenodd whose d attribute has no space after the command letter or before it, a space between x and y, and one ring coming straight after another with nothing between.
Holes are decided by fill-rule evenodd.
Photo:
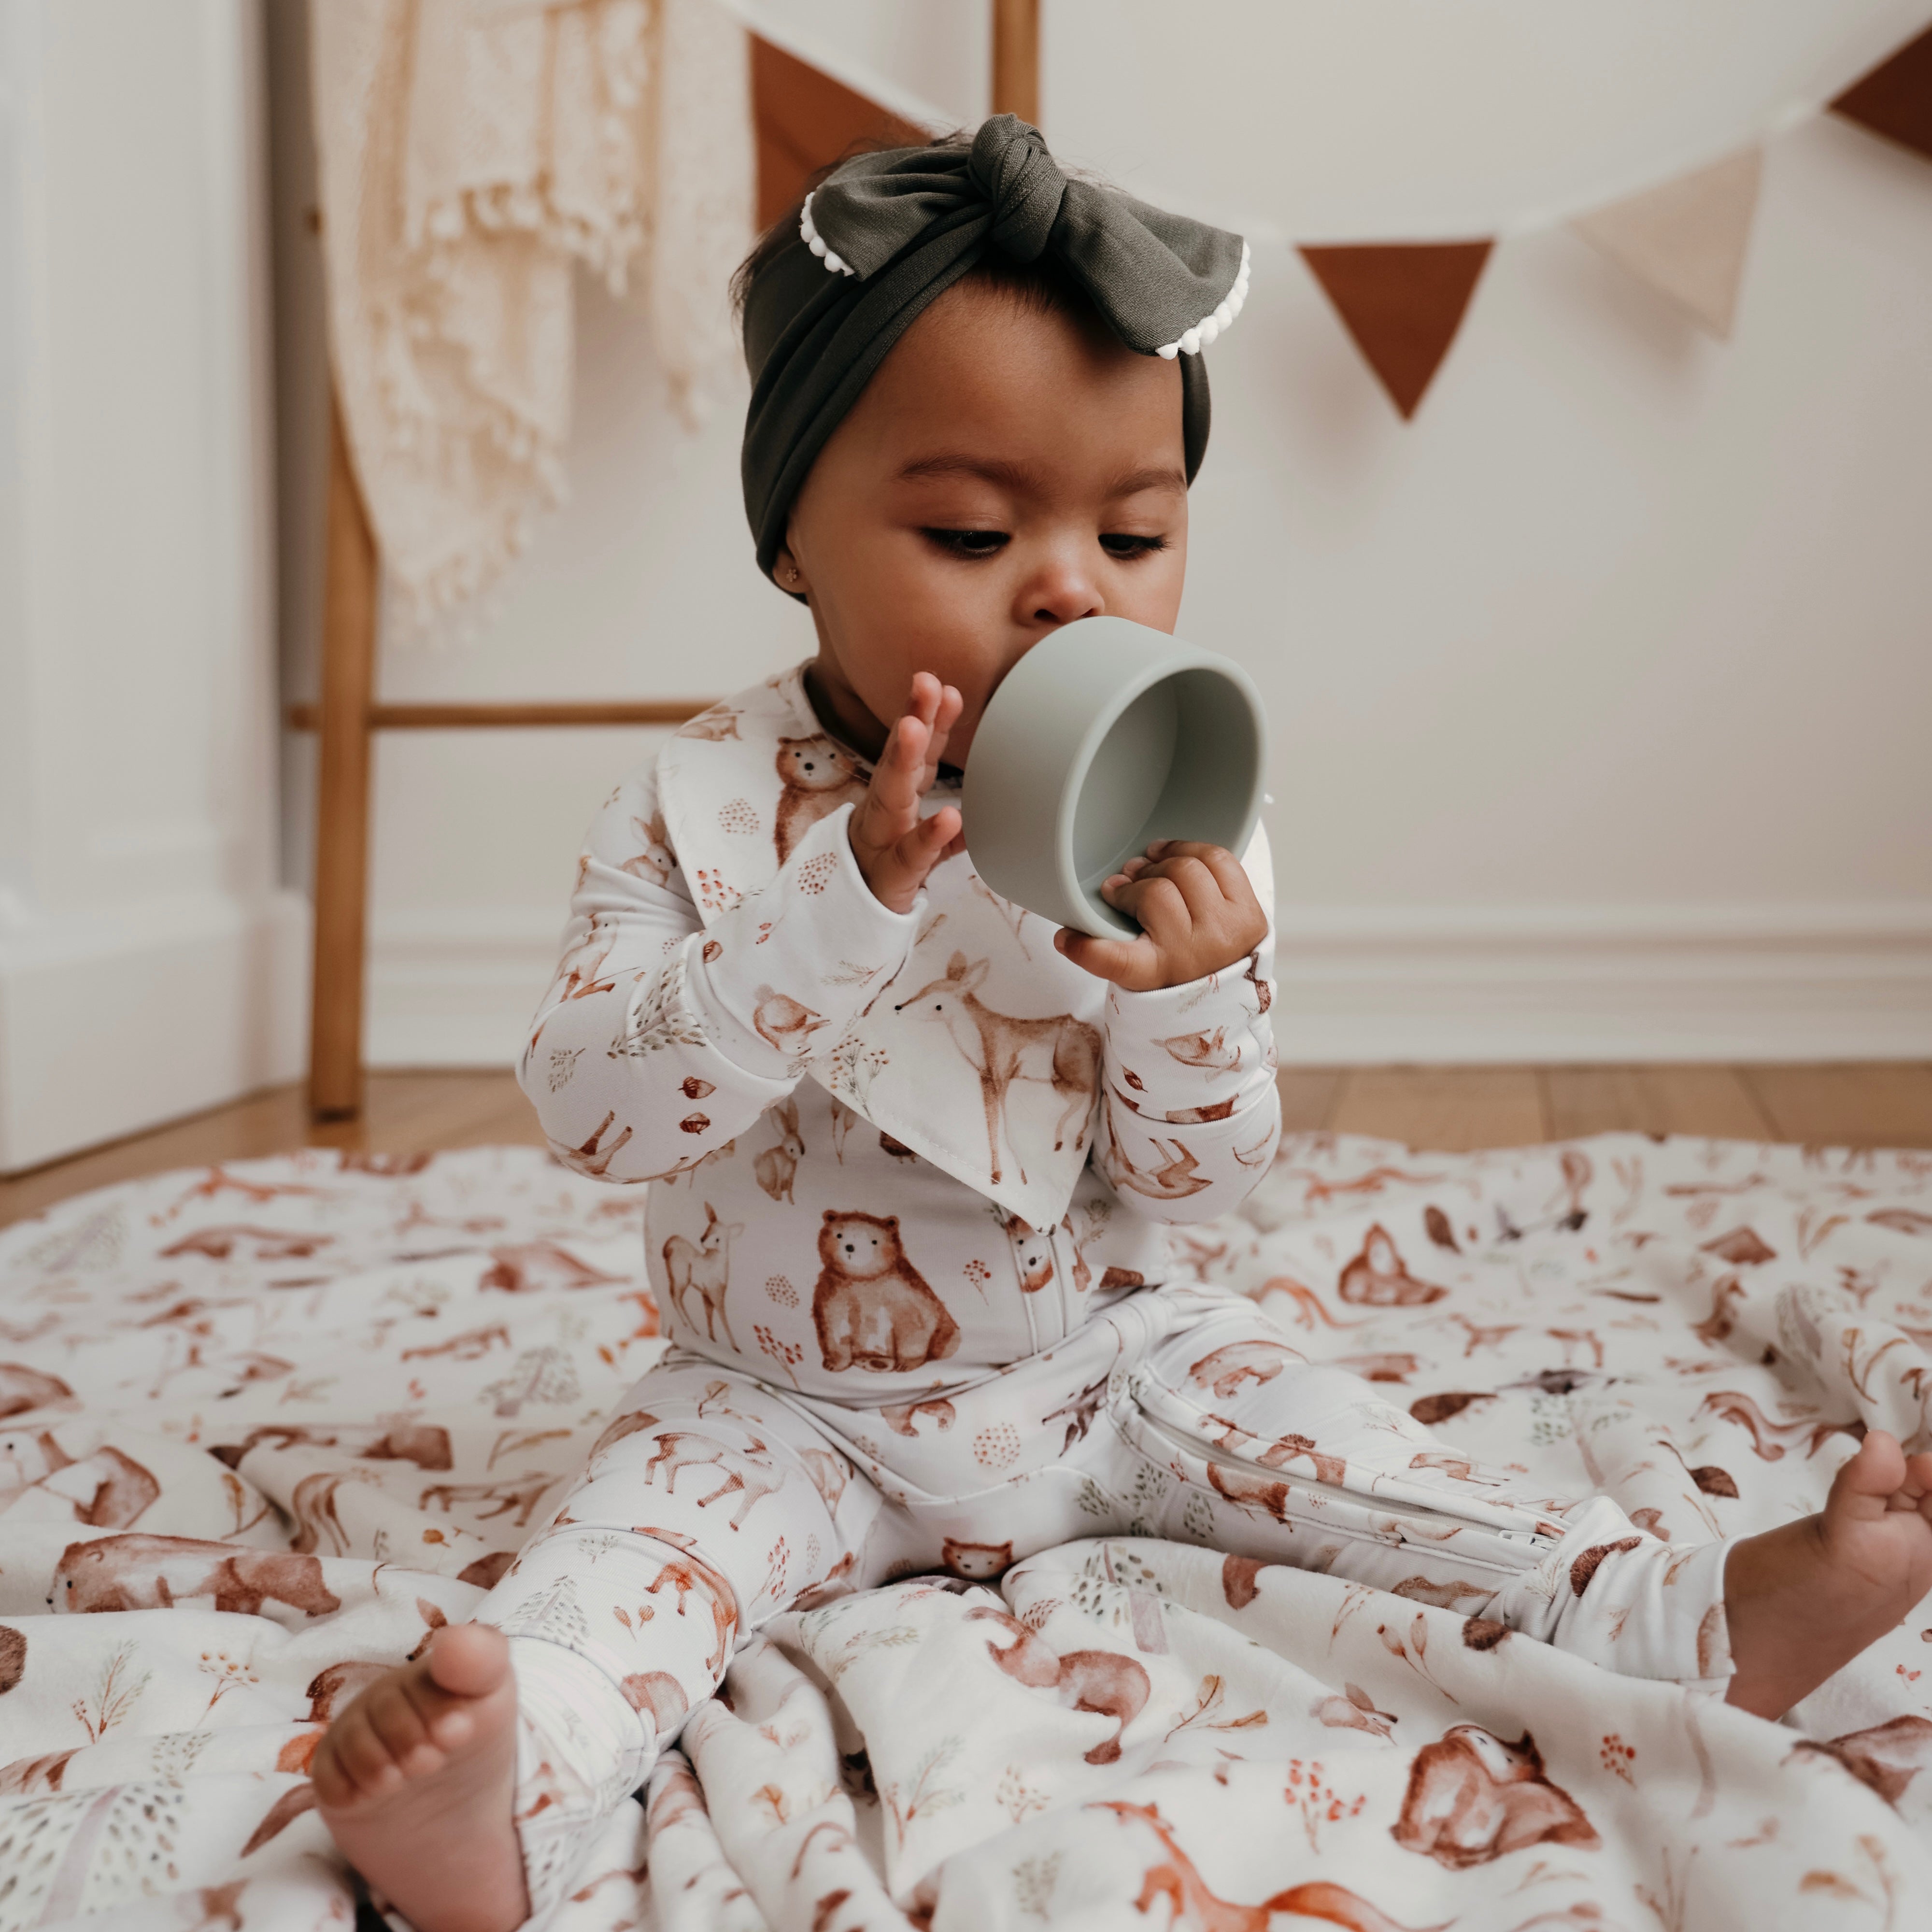
<instances>
[{"instance_id":1,"label":"whole printed pajama sleeve of the bent arm at left","mask_svg":"<svg viewBox=\"0 0 1932 1932\"><path fill-rule=\"evenodd\" d=\"M923 898L889 912L852 858L842 806L761 893L703 925L655 773L591 823L556 968L518 1082L553 1153L603 1180L686 1173L723 1151L904 962Z\"/></svg>"}]
</instances>

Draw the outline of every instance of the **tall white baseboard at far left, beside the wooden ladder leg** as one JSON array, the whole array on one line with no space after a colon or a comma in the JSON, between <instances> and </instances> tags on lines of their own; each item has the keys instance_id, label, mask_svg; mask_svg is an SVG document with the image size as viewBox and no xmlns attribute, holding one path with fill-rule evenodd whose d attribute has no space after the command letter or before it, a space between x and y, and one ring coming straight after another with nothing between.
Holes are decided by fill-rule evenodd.
<instances>
[{"instance_id":1,"label":"tall white baseboard at far left, beside the wooden ladder leg","mask_svg":"<svg viewBox=\"0 0 1932 1932\"><path fill-rule=\"evenodd\" d=\"M0 1175L299 1080L309 902L149 900L0 931Z\"/></svg>"}]
</instances>

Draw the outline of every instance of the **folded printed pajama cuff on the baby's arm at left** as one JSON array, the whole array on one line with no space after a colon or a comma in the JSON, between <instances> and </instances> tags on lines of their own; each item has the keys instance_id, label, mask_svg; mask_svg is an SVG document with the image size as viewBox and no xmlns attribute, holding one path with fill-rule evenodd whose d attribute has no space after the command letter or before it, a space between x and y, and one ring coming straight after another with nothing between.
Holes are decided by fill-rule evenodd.
<instances>
[{"instance_id":1,"label":"folded printed pajama cuff on the baby's arm at left","mask_svg":"<svg viewBox=\"0 0 1932 1932\"><path fill-rule=\"evenodd\" d=\"M779 875L684 941L690 1001L734 1065L794 1082L904 964L925 916L881 906L852 856L840 806L800 840Z\"/></svg>"}]
</instances>

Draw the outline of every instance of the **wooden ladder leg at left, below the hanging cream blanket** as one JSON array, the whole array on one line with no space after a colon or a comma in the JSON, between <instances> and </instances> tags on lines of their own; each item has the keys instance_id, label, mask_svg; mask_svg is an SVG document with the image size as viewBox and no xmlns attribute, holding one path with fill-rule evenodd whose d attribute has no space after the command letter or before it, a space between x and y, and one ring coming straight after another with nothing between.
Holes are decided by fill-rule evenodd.
<instances>
[{"instance_id":1,"label":"wooden ladder leg at left, below the hanging cream blanket","mask_svg":"<svg viewBox=\"0 0 1932 1932\"><path fill-rule=\"evenodd\" d=\"M369 711L375 699L377 554L355 487L342 404L328 400L328 539L323 582L321 759L315 810L315 978L309 1113L361 1113L369 898Z\"/></svg>"}]
</instances>

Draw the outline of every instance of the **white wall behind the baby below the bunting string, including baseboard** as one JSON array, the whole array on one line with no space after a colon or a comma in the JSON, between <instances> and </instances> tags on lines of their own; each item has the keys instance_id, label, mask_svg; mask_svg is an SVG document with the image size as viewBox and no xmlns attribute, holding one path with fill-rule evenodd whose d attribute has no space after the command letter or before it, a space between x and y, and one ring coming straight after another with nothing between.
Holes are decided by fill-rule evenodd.
<instances>
[{"instance_id":1,"label":"white wall behind the baby below the bunting string, including baseboard","mask_svg":"<svg viewBox=\"0 0 1932 1932\"><path fill-rule=\"evenodd\" d=\"M1051 131L1051 89L1049 89ZM1213 350L1182 630L1275 726L1285 1057L1932 1053L1932 164L1770 151L1727 346L1561 228L1403 425L1298 257ZM585 294L576 504L392 697L730 690L808 649L724 410ZM506 1061L649 734L398 736L373 1049Z\"/></svg>"}]
</instances>

